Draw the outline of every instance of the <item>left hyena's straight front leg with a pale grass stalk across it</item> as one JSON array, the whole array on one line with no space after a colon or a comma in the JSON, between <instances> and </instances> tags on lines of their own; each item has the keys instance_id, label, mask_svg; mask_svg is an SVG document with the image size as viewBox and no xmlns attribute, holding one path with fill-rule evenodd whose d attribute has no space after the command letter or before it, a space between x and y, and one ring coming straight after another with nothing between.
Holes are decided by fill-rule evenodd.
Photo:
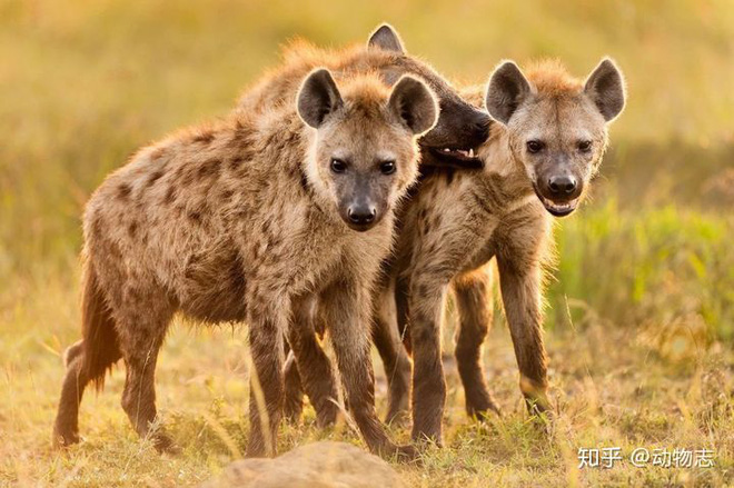
<instances>
[{"instance_id":1,"label":"left hyena's straight front leg with a pale grass stalk across it","mask_svg":"<svg viewBox=\"0 0 734 488\"><path fill-rule=\"evenodd\" d=\"M250 301L249 338L250 370L250 437L248 457L276 455L278 426L284 404L284 335L288 327L289 300L277 303ZM284 310L286 310L284 312Z\"/></svg>"}]
</instances>

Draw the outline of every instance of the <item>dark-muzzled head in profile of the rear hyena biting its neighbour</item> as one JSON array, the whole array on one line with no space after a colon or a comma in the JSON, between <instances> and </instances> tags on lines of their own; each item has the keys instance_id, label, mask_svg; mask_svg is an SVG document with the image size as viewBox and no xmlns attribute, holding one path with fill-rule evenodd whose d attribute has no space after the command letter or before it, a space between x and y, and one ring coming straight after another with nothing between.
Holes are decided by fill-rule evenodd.
<instances>
[{"instance_id":1,"label":"dark-muzzled head in profile of the rear hyena biting its neighbour","mask_svg":"<svg viewBox=\"0 0 734 488\"><path fill-rule=\"evenodd\" d=\"M393 56L383 68L383 76L393 83L404 74L425 80L438 98L440 113L436 126L419 140L420 148L438 161L460 168L479 168L482 160L474 156L489 135L489 117L458 96L440 74L425 62L408 56L396 30L384 23L367 41L368 50L381 50Z\"/></svg>"}]
</instances>

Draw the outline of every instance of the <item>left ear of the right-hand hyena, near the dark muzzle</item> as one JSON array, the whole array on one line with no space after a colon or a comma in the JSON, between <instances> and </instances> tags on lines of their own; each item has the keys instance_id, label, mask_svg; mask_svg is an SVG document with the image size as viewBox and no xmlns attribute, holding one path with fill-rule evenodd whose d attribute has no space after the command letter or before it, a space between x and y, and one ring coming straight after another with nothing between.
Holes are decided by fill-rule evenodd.
<instances>
[{"instance_id":1,"label":"left ear of the right-hand hyena, near the dark muzzle","mask_svg":"<svg viewBox=\"0 0 734 488\"><path fill-rule=\"evenodd\" d=\"M507 125L532 92L530 83L513 61L505 61L489 77L485 104L493 119Z\"/></svg>"}]
</instances>

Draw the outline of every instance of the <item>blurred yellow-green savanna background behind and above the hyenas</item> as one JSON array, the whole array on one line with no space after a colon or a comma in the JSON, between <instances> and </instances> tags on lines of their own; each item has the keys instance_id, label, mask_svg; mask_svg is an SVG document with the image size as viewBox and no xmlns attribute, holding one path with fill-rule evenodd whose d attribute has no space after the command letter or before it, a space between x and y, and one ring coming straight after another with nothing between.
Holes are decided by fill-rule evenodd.
<instances>
[{"instance_id":1,"label":"blurred yellow-green savanna background behind and above the hyenas","mask_svg":"<svg viewBox=\"0 0 734 488\"><path fill-rule=\"evenodd\" d=\"M294 37L365 42L383 21L456 82L504 58L602 56L629 99L593 201L558 225L548 327L694 327L734 339L734 4L657 1L0 1L0 313L76 287L80 215L105 175L227 113ZM65 288L63 285L62 288Z\"/></svg>"}]
</instances>

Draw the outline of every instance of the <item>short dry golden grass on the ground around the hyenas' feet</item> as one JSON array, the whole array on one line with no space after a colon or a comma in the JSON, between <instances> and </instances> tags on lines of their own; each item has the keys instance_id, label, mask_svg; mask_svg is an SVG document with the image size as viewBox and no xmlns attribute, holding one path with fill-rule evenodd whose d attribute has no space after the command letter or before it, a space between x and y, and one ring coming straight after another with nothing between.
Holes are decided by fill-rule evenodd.
<instances>
[{"instance_id":1,"label":"short dry golden grass on the ground around the hyenas' feet","mask_svg":"<svg viewBox=\"0 0 734 488\"><path fill-rule=\"evenodd\" d=\"M178 323L158 368L158 404L177 457L159 456L136 438L119 406L123 374L82 406L86 441L68 451L50 448L59 381L59 351L77 338L73 276L24 286L26 308L7 310L0 396L0 480L21 486L178 486L201 481L240 456L246 445L247 347L242 329L202 329ZM407 486L723 486L734 468L734 360L731 347L706 342L687 330L687 347L667 327L617 327L587 319L578 329L548 335L556 419L549 434L528 419L517 388L515 358L498 317L485 350L492 390L502 418L468 419L450 355L446 447L428 449L421 467L397 466ZM450 347L452 320L446 345ZM683 342L687 343L687 342ZM666 352L672 351L672 352ZM384 411L384 376L378 380ZM364 446L347 424L319 431L313 410L301 426L284 426L280 450L316 439ZM407 440L406 430L393 435ZM715 467L578 469L582 447L713 449Z\"/></svg>"}]
</instances>

